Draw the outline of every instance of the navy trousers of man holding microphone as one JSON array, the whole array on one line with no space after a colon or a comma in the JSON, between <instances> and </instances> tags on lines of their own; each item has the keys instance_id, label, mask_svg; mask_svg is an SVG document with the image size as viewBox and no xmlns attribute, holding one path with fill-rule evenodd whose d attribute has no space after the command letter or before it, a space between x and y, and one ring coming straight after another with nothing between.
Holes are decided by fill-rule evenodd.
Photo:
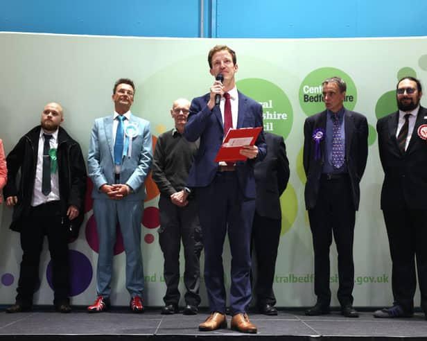
<instances>
[{"instance_id":1,"label":"navy trousers of man holding microphone","mask_svg":"<svg viewBox=\"0 0 427 341\"><path fill-rule=\"evenodd\" d=\"M232 254L230 311L245 313L251 299L250 238L255 199L247 200L238 186L236 172L218 172L195 193L204 246L204 281L210 311L225 313L223 246L228 234Z\"/></svg>"}]
</instances>

